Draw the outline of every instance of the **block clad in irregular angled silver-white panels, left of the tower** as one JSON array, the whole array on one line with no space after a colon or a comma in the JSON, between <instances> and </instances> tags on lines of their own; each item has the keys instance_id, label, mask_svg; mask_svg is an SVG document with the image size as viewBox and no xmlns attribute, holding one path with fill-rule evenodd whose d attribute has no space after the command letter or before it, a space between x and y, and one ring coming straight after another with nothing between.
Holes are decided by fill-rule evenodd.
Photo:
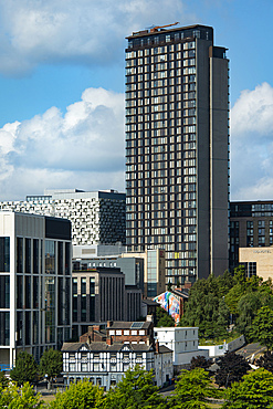
<instances>
[{"instance_id":1,"label":"block clad in irregular angled silver-white panels, left of the tower","mask_svg":"<svg viewBox=\"0 0 273 409\"><path fill-rule=\"evenodd\" d=\"M25 201L2 201L0 210L66 218L74 245L125 244L125 193L114 190L45 190Z\"/></svg>"}]
</instances>

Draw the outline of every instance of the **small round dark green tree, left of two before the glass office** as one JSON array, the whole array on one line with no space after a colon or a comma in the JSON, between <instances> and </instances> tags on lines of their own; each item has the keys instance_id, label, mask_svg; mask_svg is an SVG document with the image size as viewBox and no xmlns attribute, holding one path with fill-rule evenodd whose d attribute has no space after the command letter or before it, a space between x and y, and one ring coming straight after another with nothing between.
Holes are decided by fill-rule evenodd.
<instances>
[{"instance_id":1,"label":"small round dark green tree, left of two before the glass office","mask_svg":"<svg viewBox=\"0 0 273 409\"><path fill-rule=\"evenodd\" d=\"M32 355L21 352L15 359L15 367L11 369L10 377L19 385L33 382L38 373L38 365Z\"/></svg>"}]
</instances>

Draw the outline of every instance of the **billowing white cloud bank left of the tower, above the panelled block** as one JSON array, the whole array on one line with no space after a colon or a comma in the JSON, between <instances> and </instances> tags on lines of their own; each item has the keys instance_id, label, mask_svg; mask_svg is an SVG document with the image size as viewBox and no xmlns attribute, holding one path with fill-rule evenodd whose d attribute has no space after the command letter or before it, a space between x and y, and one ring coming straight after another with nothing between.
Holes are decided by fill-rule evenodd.
<instances>
[{"instance_id":1,"label":"billowing white cloud bank left of the tower, above the panelled block","mask_svg":"<svg viewBox=\"0 0 273 409\"><path fill-rule=\"evenodd\" d=\"M0 129L0 198L46 187L124 190L124 95L87 88L62 113L52 107ZM15 195L14 195L15 192Z\"/></svg>"}]
</instances>

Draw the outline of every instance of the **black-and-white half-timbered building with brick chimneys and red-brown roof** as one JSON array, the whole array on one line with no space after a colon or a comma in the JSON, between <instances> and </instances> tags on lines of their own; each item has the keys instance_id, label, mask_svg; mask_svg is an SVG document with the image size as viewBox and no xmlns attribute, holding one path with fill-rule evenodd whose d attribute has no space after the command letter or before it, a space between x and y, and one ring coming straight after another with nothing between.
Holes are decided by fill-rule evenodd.
<instances>
[{"instance_id":1,"label":"black-and-white half-timbered building with brick chimneys and red-brown roof","mask_svg":"<svg viewBox=\"0 0 273 409\"><path fill-rule=\"evenodd\" d=\"M66 384L88 378L108 390L136 365L155 370L155 382L162 386L172 377L171 350L154 342L154 324L146 322L108 322L90 326L78 343L65 343L63 376Z\"/></svg>"}]
</instances>

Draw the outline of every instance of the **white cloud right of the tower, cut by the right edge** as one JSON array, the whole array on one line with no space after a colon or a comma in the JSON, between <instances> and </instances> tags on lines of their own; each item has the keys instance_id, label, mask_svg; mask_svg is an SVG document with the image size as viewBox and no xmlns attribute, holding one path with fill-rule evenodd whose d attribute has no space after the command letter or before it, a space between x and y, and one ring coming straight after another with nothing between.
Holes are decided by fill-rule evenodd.
<instances>
[{"instance_id":1,"label":"white cloud right of the tower, cut by the right edge","mask_svg":"<svg viewBox=\"0 0 273 409\"><path fill-rule=\"evenodd\" d=\"M231 109L231 198L273 197L273 87L245 90Z\"/></svg>"}]
</instances>

